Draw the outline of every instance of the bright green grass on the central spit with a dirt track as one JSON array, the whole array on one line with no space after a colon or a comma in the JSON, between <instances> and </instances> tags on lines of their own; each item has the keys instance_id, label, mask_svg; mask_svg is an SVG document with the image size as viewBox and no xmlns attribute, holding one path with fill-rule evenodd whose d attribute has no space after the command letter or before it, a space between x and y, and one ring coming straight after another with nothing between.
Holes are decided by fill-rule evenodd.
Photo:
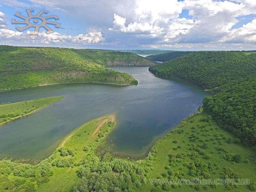
<instances>
[{"instance_id":1,"label":"bright green grass on the central spit with a dirt track","mask_svg":"<svg viewBox=\"0 0 256 192\"><path fill-rule=\"evenodd\" d=\"M79 162L84 156L93 151L99 145L100 142L95 140L98 138L98 134L102 133L104 136L100 138L103 140L111 132L113 127L109 127L107 122L114 121L115 115L109 114L98 119L94 119L85 123L78 129L75 129L69 135L67 135L63 142L59 145L60 148L70 148L75 150L74 162ZM99 128L97 131L97 128ZM95 132L96 130L96 132ZM94 134L93 134L94 133ZM99 140L99 138L98 138ZM85 152L83 147L91 146L90 150ZM54 159L58 159L61 156L59 153L56 153ZM54 160L53 159L53 160ZM52 161L53 161L52 160ZM79 180L76 171L79 170L82 166L72 166L72 167L53 167L53 176L50 177L50 181L47 183L42 183L39 187L39 192L51 192L51 191L65 191L70 192L73 189L73 186Z\"/></svg>"}]
</instances>

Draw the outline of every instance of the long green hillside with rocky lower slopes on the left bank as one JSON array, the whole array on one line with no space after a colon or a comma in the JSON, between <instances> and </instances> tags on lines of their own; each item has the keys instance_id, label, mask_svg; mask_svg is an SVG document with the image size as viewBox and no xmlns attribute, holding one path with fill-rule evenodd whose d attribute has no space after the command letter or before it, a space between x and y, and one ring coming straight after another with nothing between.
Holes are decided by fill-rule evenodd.
<instances>
[{"instance_id":1,"label":"long green hillside with rocky lower slopes on the left bank","mask_svg":"<svg viewBox=\"0 0 256 192\"><path fill-rule=\"evenodd\" d=\"M137 84L106 65L154 65L136 54L111 50L0 45L0 92L68 82Z\"/></svg>"}]
</instances>

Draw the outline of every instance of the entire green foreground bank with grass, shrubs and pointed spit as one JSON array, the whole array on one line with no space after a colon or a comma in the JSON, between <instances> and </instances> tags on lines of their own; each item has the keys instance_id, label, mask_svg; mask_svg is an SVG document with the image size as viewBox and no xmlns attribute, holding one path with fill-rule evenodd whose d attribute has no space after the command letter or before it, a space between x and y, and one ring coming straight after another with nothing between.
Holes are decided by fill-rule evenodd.
<instances>
[{"instance_id":1,"label":"entire green foreground bank with grass, shrubs and pointed spit","mask_svg":"<svg viewBox=\"0 0 256 192\"><path fill-rule=\"evenodd\" d=\"M202 177L213 181L231 177L230 173L236 178L250 179L251 182L256 179L255 152L234 143L235 138L217 127L205 112L184 119L156 141L147 157L136 161L113 157L104 151L105 139L113 130L114 121L115 116L110 114L78 127L63 139L50 157L39 164L0 161L0 191L7 188L8 192L71 192L75 186L85 191L94 189L111 192L114 189L131 192L223 192L227 189L246 192L250 191L248 185L216 185L215 188L209 185L154 186L149 179ZM240 162L224 158L231 153L240 155ZM68 160L71 162L65 163ZM191 169L189 165L196 165L197 168ZM229 175L223 175L225 168L229 170ZM37 172L41 170L45 171L39 176ZM78 173L83 177L78 177Z\"/></svg>"}]
</instances>

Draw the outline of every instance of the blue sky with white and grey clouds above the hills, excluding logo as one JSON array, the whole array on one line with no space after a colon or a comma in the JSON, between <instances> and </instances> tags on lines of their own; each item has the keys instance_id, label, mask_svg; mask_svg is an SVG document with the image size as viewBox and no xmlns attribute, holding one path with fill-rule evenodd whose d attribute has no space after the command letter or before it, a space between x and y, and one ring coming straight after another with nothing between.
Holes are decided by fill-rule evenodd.
<instances>
[{"instance_id":1,"label":"blue sky with white and grey clouds above the hills, excluding logo","mask_svg":"<svg viewBox=\"0 0 256 192\"><path fill-rule=\"evenodd\" d=\"M49 11L61 26L20 32ZM33 19L30 19L33 22ZM256 0L0 0L0 44L96 49L256 50Z\"/></svg>"}]
</instances>

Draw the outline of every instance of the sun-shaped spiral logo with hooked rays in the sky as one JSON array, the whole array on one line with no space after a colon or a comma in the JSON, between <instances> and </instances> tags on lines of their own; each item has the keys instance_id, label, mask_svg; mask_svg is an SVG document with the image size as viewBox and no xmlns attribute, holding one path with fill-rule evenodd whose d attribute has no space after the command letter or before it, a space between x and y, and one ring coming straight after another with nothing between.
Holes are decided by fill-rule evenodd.
<instances>
[{"instance_id":1,"label":"sun-shaped spiral logo with hooked rays in the sky","mask_svg":"<svg viewBox=\"0 0 256 192\"><path fill-rule=\"evenodd\" d=\"M26 26L24 26L22 28L16 27L16 29L19 31L24 31L30 27L33 27L33 28L35 28L35 30L30 31L30 35L38 35L39 28L43 27L47 30L46 34L50 34L54 31L50 27L48 27L47 24L54 25L55 28L59 28L61 26L60 23L48 21L48 19L58 20L59 17L57 17L57 15L51 15L51 16L46 16L46 17L41 16L43 13L47 14L48 11L41 10L39 13L37 13L37 15L32 15L31 12L34 12L34 9L27 9L26 11L28 13L28 17L24 17L24 16L20 15L21 14L20 12L14 14L16 17L19 17L20 19L23 19L24 21L16 21L15 19L11 19L12 24L26 24Z\"/></svg>"}]
</instances>

